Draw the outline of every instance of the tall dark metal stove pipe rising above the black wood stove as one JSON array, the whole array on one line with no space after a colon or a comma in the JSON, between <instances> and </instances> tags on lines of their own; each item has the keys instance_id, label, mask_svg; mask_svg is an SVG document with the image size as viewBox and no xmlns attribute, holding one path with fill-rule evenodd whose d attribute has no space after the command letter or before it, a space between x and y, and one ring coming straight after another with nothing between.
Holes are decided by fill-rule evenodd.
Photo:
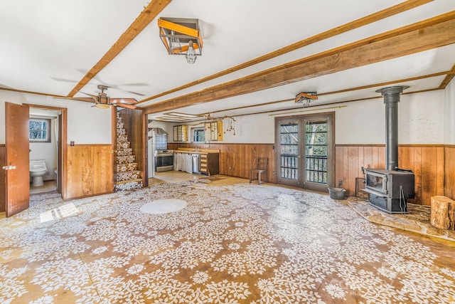
<instances>
[{"instance_id":1,"label":"tall dark metal stove pipe rising above the black wood stove","mask_svg":"<svg viewBox=\"0 0 455 304\"><path fill-rule=\"evenodd\" d=\"M400 94L407 88L409 88L408 85L400 85L376 91L381 93L385 103L386 170L396 170L398 168L398 103L400 103Z\"/></svg>"}]
</instances>

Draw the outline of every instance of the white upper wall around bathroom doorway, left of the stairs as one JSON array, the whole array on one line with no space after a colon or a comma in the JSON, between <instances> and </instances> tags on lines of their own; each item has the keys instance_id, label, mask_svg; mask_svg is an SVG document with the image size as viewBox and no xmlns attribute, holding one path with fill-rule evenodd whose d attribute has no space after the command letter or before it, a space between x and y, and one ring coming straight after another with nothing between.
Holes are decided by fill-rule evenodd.
<instances>
[{"instance_id":1,"label":"white upper wall around bathroom doorway, left of the stairs","mask_svg":"<svg viewBox=\"0 0 455 304\"><path fill-rule=\"evenodd\" d=\"M110 144L111 111L91 108L90 103L0 90L0 144L5 143L5 102L50 105L68 109L68 144Z\"/></svg>"}]
</instances>

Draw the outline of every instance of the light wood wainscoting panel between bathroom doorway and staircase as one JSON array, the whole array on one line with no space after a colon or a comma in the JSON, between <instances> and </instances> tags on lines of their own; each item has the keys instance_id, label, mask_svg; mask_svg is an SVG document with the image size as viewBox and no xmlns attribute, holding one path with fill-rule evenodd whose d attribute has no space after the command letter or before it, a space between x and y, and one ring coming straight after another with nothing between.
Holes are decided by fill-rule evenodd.
<instances>
[{"instance_id":1,"label":"light wood wainscoting panel between bathroom doorway and staircase","mask_svg":"<svg viewBox=\"0 0 455 304\"><path fill-rule=\"evenodd\" d=\"M114 184L111 145L68 145L67 151L67 197L63 199L112 192Z\"/></svg>"}]
</instances>

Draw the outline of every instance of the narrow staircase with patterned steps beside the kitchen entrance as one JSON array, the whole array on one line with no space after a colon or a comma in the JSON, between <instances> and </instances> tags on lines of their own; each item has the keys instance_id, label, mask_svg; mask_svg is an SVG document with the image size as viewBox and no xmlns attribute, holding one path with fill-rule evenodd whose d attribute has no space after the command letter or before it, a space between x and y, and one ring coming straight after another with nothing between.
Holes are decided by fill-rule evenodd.
<instances>
[{"instance_id":1,"label":"narrow staircase with patterned steps beside the kitchen entrance","mask_svg":"<svg viewBox=\"0 0 455 304\"><path fill-rule=\"evenodd\" d=\"M127 130L119 111L117 111L117 159L115 164L115 186L114 191L125 191L141 189L144 187L142 172L138 170L136 156L130 142L128 141Z\"/></svg>"}]
</instances>

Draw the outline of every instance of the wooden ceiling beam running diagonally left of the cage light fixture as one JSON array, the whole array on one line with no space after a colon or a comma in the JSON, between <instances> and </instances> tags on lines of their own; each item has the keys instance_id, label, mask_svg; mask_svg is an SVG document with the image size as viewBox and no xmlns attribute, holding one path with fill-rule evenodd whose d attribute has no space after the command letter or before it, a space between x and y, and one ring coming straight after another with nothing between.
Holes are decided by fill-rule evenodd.
<instances>
[{"instance_id":1,"label":"wooden ceiling beam running diagonally left of the cage light fixture","mask_svg":"<svg viewBox=\"0 0 455 304\"><path fill-rule=\"evenodd\" d=\"M122 33L122 36L114 43L109 51L98 61L84 77L75 85L73 90L68 94L68 97L73 97L80 91L92 78L97 75L106 65L108 65L123 49L141 33L141 31L149 25L149 23L158 16L159 13L169 4L172 0L153 0L150 1L144 11L137 17L136 20L127 28L127 31Z\"/></svg>"}]
</instances>

